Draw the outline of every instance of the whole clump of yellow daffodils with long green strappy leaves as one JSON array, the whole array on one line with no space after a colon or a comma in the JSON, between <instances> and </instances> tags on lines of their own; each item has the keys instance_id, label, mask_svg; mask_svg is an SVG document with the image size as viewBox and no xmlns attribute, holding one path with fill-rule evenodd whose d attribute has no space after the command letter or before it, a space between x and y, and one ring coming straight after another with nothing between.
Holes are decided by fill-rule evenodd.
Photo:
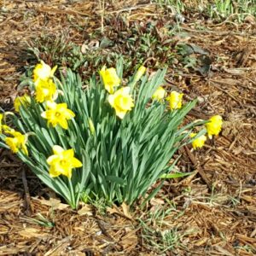
<instances>
[{"instance_id":1,"label":"whole clump of yellow daffodils with long green strappy leaves","mask_svg":"<svg viewBox=\"0 0 256 256\"><path fill-rule=\"evenodd\" d=\"M220 116L181 127L196 101L183 104L177 91L166 96L160 86L166 70L149 79L140 67L125 79L122 63L102 67L100 81L93 75L83 85L69 69L55 78L56 67L41 61L29 83L31 94L15 100L19 114L0 115L0 146L16 153L73 208L94 198L129 205L147 201L175 166L178 148L201 148L206 133L212 137L221 129ZM198 132L192 132L195 126Z\"/></svg>"}]
</instances>

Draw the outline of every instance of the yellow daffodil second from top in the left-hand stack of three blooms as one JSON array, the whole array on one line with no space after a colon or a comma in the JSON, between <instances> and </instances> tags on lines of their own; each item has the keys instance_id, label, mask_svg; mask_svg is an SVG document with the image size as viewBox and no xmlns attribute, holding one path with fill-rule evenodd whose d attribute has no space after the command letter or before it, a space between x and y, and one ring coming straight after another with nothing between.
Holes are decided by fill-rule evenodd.
<instances>
[{"instance_id":1,"label":"yellow daffodil second from top in the left-hand stack of three blooms","mask_svg":"<svg viewBox=\"0 0 256 256\"><path fill-rule=\"evenodd\" d=\"M46 102L52 101L56 93L56 85L52 79L42 80L38 79L36 85L36 101Z\"/></svg>"}]
</instances>

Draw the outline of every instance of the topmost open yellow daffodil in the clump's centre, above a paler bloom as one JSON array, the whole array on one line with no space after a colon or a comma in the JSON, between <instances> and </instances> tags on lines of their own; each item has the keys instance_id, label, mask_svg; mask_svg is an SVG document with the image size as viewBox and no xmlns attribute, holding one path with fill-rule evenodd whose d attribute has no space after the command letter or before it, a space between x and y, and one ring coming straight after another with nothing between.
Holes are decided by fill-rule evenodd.
<instances>
[{"instance_id":1,"label":"topmost open yellow daffodil in the clump's centre, above a paler bloom","mask_svg":"<svg viewBox=\"0 0 256 256\"><path fill-rule=\"evenodd\" d=\"M102 67L100 74L102 76L105 89L108 90L110 94L113 94L113 87L119 86L121 82L121 79L119 79L119 76L117 75L115 68L110 67L106 69L106 67L104 66Z\"/></svg>"}]
</instances>

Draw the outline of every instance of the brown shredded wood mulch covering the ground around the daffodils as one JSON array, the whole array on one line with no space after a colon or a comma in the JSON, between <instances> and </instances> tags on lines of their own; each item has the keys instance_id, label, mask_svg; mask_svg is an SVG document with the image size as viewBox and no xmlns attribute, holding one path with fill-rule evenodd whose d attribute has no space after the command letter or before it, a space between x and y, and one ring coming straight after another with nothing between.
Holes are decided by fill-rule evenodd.
<instances>
[{"instance_id":1,"label":"brown shredded wood mulch covering the ground around the daffodils","mask_svg":"<svg viewBox=\"0 0 256 256\"><path fill-rule=\"evenodd\" d=\"M73 2L73 3L72 3ZM107 2L107 1L106 1ZM105 15L129 20L172 19L149 1L106 4ZM159 11L159 13L158 13ZM192 19L192 18L191 18ZM170 86L182 89L199 104L189 119L224 117L219 137L204 149L183 148L178 168L192 176L166 182L148 211L175 209L164 218L180 235L166 255L254 255L256 253L256 22L221 23L196 29L196 19L181 25L190 44L207 49L212 72L207 76L184 72L178 79L168 69ZM193 21L193 22L192 22ZM200 20L197 20L200 22ZM26 42L41 34L68 31L69 40L82 45L90 32L101 29L96 1L5 1L0 13L0 107L10 109L17 94ZM203 116L202 116L203 115ZM81 206L74 212L44 188L37 177L7 150L0 148L0 255L157 255L143 237L137 218L148 212L124 207ZM32 219L40 213L52 226ZM128 215L127 215L128 214ZM157 224L150 224L157 229ZM164 253L163 253L164 255Z\"/></svg>"}]
</instances>

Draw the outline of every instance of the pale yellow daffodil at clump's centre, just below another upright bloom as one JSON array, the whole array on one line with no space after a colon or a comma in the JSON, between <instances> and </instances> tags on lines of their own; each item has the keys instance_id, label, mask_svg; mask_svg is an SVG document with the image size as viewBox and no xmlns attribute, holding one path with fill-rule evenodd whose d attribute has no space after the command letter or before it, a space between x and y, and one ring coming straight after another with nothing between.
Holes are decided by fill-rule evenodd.
<instances>
[{"instance_id":1,"label":"pale yellow daffodil at clump's centre, just below another upright bloom","mask_svg":"<svg viewBox=\"0 0 256 256\"><path fill-rule=\"evenodd\" d=\"M108 96L109 104L114 108L116 115L123 119L125 113L134 107L133 99L129 95L130 87L123 87L117 90L113 95Z\"/></svg>"}]
</instances>

